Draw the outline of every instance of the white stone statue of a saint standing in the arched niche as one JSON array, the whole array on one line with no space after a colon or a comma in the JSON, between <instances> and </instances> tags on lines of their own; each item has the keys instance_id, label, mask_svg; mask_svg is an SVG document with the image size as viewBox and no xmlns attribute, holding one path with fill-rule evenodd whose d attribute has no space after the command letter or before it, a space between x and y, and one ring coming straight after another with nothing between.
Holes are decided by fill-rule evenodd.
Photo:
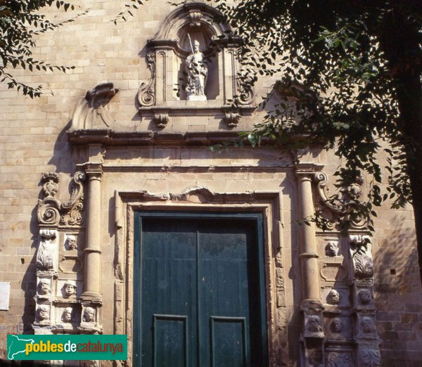
<instances>
[{"instance_id":1,"label":"white stone statue of a saint standing in the arched niche","mask_svg":"<svg viewBox=\"0 0 422 367\"><path fill-rule=\"evenodd\" d=\"M188 35L189 41L191 37ZM205 96L205 84L207 82L207 65L205 65L203 53L199 49L199 41L191 43L192 52L186 58L186 72L188 83L186 85L186 96L188 101L207 101Z\"/></svg>"}]
</instances>

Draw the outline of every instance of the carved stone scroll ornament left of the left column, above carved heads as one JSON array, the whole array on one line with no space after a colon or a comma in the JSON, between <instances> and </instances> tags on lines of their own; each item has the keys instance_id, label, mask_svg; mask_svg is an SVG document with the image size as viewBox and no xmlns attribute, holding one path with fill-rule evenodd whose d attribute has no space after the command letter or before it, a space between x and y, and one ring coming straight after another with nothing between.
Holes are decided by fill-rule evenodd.
<instances>
[{"instance_id":1,"label":"carved stone scroll ornament left of the left column, above carved heads","mask_svg":"<svg viewBox=\"0 0 422 367\"><path fill-rule=\"evenodd\" d=\"M55 198L58 191L58 174L47 172L41 176L44 181L44 200L38 200L37 217L39 224L80 226L82 224L82 209L84 188L82 181L84 172L77 172L72 180L70 200L60 202Z\"/></svg>"}]
</instances>

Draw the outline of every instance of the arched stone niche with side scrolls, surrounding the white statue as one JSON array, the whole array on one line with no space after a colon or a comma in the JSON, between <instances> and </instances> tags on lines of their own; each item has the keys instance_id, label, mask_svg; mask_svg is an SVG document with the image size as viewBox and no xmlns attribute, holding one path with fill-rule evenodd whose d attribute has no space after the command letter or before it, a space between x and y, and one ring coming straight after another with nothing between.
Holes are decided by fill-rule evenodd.
<instances>
[{"instance_id":1,"label":"arched stone niche with side scrolls, surrounding the white statue","mask_svg":"<svg viewBox=\"0 0 422 367\"><path fill-rule=\"evenodd\" d=\"M139 88L141 115L164 112L168 117L175 110L188 112L198 108L215 115L236 96L241 104L239 111L252 111L252 91L242 92L236 78L239 39L224 37L231 28L222 19L215 8L202 3L185 4L167 15L155 37L146 44L146 65L151 77ZM186 98L186 58L194 41L199 42L207 65L206 101Z\"/></svg>"}]
</instances>

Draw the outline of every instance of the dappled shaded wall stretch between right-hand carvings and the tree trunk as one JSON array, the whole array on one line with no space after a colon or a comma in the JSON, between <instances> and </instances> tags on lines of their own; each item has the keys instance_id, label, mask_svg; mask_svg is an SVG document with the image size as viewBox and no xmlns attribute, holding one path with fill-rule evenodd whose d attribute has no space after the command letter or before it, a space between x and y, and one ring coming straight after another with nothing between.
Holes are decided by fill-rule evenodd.
<instances>
[{"instance_id":1,"label":"dappled shaded wall stretch between right-hand carvings and the tree trunk","mask_svg":"<svg viewBox=\"0 0 422 367\"><path fill-rule=\"evenodd\" d=\"M378 237L374 256L377 328L383 361L409 366L422 363L422 289L414 221L395 214L388 226Z\"/></svg>"}]
</instances>

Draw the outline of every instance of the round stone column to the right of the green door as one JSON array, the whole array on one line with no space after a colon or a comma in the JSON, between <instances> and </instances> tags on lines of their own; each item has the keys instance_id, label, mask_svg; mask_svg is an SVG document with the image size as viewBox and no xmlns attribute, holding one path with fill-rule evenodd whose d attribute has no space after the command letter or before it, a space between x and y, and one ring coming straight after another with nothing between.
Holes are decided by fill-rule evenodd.
<instances>
[{"instance_id":1,"label":"round stone column to the right of the green door","mask_svg":"<svg viewBox=\"0 0 422 367\"><path fill-rule=\"evenodd\" d=\"M298 210L299 218L305 219L314 215L312 198L312 177L314 172L298 167ZM300 227L300 259L302 262L303 301L319 300L318 255L316 253L315 225L302 224Z\"/></svg>"}]
</instances>

